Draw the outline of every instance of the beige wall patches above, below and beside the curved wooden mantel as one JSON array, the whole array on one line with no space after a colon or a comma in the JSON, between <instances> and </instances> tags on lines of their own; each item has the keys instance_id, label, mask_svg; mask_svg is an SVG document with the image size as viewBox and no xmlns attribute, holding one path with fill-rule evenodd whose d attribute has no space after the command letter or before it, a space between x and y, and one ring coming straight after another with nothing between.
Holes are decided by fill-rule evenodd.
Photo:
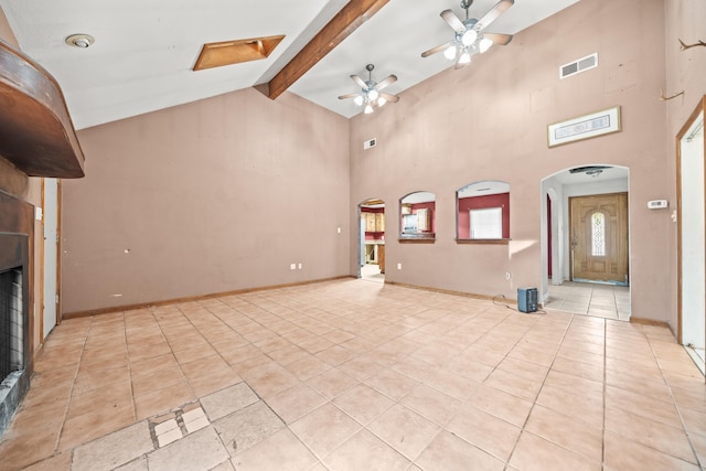
<instances>
[{"instance_id":1,"label":"beige wall patches above, below and beside the curved wooden mantel","mask_svg":"<svg viewBox=\"0 0 706 471\"><path fill-rule=\"evenodd\" d=\"M0 8L0 41L11 44L19 49L18 40L8 24L8 19ZM0 191L9 193L20 200L26 201L35 206L42 205L42 179L29 178L26 174L18 170L12 163L0 156ZM40 345L41 321L42 315L42 223L36 221L34 224L34 306L30 309L30 315L34 315L34 347Z\"/></svg>"}]
</instances>

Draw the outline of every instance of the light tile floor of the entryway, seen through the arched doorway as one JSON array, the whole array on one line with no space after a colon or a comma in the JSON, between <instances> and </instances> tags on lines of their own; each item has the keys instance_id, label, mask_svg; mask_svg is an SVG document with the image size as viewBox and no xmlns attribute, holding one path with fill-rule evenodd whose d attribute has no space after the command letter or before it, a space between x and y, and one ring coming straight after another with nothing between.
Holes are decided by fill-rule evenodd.
<instances>
[{"instance_id":1,"label":"light tile floor of the entryway, seen through the arched doorway","mask_svg":"<svg viewBox=\"0 0 706 471\"><path fill-rule=\"evenodd\" d=\"M549 281L548 291L544 309L630 320L630 287L574 281L552 285Z\"/></svg>"}]
</instances>

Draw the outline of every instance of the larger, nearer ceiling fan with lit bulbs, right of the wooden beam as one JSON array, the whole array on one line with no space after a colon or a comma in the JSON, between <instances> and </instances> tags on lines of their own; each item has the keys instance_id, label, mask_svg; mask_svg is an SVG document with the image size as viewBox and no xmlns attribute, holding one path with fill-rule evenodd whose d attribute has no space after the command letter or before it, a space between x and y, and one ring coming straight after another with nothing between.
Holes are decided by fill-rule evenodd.
<instances>
[{"instance_id":1,"label":"larger, nearer ceiling fan with lit bulbs, right of the wooden beam","mask_svg":"<svg viewBox=\"0 0 706 471\"><path fill-rule=\"evenodd\" d=\"M425 51L421 56L428 57L431 54L443 51L446 58L456 61L456 68L461 68L471 63L473 54L478 52L484 53L493 44L507 44L512 40L512 34L486 33L483 30L514 3L515 0L500 0L480 20L468 15L468 9L473 4L473 0L461 1L461 8L466 10L466 20L463 21L459 20L453 11L443 10L441 18L456 31L453 41Z\"/></svg>"}]
</instances>

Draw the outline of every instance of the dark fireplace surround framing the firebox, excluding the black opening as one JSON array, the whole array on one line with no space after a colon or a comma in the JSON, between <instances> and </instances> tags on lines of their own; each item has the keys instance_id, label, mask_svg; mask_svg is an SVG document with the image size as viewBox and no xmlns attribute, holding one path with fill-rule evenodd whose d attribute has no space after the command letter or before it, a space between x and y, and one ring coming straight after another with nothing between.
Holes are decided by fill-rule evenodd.
<instances>
[{"instance_id":1,"label":"dark fireplace surround framing the firebox, excluding the black opening","mask_svg":"<svg viewBox=\"0 0 706 471\"><path fill-rule=\"evenodd\" d=\"M21 347L14 345L12 350L21 351L22 357L13 361L20 365L14 367L6 377L0 378L0 437L10 425L10 420L18 409L20 402L30 388L30 376L33 371L32 333L34 332L33 317L30 309L33 306L33 231L34 207L21 200L0 192L0 272L21 268L21 303L18 309L21 319ZM12 296L6 293L0 296ZM3 302L0 300L0 302ZM17 303L15 303L17 306ZM9 312L6 313L9 315ZM9 339L0 339L3 346Z\"/></svg>"}]
</instances>

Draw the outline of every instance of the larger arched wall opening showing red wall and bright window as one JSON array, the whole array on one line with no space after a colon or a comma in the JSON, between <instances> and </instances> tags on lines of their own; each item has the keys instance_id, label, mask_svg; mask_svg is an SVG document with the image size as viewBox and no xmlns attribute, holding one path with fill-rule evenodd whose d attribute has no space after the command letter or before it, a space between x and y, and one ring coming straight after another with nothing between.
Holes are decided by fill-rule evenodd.
<instances>
[{"instance_id":1,"label":"larger arched wall opening showing red wall and bright window","mask_svg":"<svg viewBox=\"0 0 706 471\"><path fill-rule=\"evenodd\" d=\"M457 240L510 239L510 184L485 180L456 192Z\"/></svg>"}]
</instances>

